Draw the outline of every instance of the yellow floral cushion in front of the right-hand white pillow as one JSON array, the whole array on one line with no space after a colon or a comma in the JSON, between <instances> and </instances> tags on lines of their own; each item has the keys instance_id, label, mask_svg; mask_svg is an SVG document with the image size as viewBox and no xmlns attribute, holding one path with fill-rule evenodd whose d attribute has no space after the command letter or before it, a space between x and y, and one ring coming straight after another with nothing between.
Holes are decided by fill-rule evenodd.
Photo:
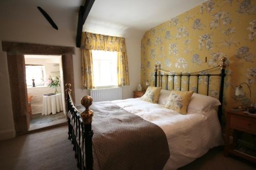
<instances>
[{"instance_id":1,"label":"yellow floral cushion in front of the right-hand white pillow","mask_svg":"<svg viewBox=\"0 0 256 170\"><path fill-rule=\"evenodd\" d=\"M181 114L187 113L187 106L193 91L172 91L167 99L165 107L173 109Z\"/></svg>"}]
</instances>

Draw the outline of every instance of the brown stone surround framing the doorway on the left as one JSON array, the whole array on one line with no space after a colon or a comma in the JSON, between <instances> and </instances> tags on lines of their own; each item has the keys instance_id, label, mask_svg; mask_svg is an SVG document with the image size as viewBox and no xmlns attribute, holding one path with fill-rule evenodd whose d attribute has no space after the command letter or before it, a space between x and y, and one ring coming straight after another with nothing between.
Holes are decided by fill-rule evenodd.
<instances>
[{"instance_id":1,"label":"brown stone surround framing the doorway on the left","mask_svg":"<svg viewBox=\"0 0 256 170\"><path fill-rule=\"evenodd\" d=\"M75 99L72 56L74 54L74 47L2 41L2 49L7 53L12 111L16 135L25 134L29 129L27 105L28 94L24 55L61 55L63 84L72 84L72 97Z\"/></svg>"}]
</instances>

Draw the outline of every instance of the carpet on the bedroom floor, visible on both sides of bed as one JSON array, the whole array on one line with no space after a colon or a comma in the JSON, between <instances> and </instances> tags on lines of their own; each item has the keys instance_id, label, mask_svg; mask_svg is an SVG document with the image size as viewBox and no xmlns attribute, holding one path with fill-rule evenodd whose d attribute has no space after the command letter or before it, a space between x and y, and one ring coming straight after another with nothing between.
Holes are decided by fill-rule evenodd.
<instances>
[{"instance_id":1,"label":"carpet on the bedroom floor, visible on both sides of bed","mask_svg":"<svg viewBox=\"0 0 256 170\"><path fill-rule=\"evenodd\" d=\"M76 159L67 126L18 136L0 141L0 169L76 170ZM191 169L256 169L255 164L238 157L223 156L222 148L211 149L206 155L180 168Z\"/></svg>"}]
</instances>

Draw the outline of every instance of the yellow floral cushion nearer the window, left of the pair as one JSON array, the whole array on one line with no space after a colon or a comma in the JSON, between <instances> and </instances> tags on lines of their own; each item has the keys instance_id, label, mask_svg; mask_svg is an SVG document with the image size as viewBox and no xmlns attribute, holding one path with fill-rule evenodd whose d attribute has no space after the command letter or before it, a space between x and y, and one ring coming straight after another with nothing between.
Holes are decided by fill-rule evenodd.
<instances>
[{"instance_id":1,"label":"yellow floral cushion nearer the window, left of the pair","mask_svg":"<svg viewBox=\"0 0 256 170\"><path fill-rule=\"evenodd\" d=\"M160 95L161 87L152 87L148 86L144 95L142 95L141 99L143 101L157 103Z\"/></svg>"}]
</instances>

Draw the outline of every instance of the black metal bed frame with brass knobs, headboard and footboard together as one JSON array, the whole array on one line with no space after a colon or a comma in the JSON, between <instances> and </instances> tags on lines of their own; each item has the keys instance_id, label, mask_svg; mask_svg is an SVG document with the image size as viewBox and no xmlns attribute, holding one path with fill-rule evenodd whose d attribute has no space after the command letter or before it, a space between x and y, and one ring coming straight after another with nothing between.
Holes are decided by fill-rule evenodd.
<instances>
[{"instance_id":1,"label":"black metal bed frame with brass knobs, headboard and footboard together","mask_svg":"<svg viewBox=\"0 0 256 170\"><path fill-rule=\"evenodd\" d=\"M218 67L221 68L220 74L214 74L214 75L202 75L202 74L167 74L167 75L161 75L158 74L159 71L163 71L155 67L155 86L157 86L157 79L160 76L160 83L162 87L162 77L166 76L166 89L168 88L168 77L173 76L175 78L176 76L180 77L180 80L182 76L188 76L188 84L191 76L197 76L198 77L198 83L197 83L197 92L198 92L198 84L199 84L199 77L200 76L207 76L208 78L210 76L220 76L220 92L219 92L219 100L222 103L223 102L223 88L224 88L224 78L225 78L225 61L226 58L221 59L222 64L220 64ZM207 69L209 70L209 69ZM203 70L202 70L203 71ZM199 72L199 71L198 71ZM181 90L181 82L180 81L180 90ZM93 137L93 130L92 130L92 117L93 117L93 111L89 109L89 107L92 105L93 99L91 96L84 96L81 99L81 104L83 107L85 107L85 110L83 112L79 111L75 104L73 103L70 89L71 84L66 84L66 94L67 94L67 102L66 102L66 110L70 116L67 114L68 119L68 139L71 140L73 150L75 152L75 158L77 159L77 167L79 169L85 169L85 170L91 170L93 169L93 146L92 146L92 137ZM173 79L173 89L174 89L174 79ZM189 85L188 85L189 90ZM207 95L209 91L209 79L208 79L208 87L207 87ZM218 116L221 120L221 114L222 114L222 106L219 107ZM78 131L77 131L78 130Z\"/></svg>"}]
</instances>

